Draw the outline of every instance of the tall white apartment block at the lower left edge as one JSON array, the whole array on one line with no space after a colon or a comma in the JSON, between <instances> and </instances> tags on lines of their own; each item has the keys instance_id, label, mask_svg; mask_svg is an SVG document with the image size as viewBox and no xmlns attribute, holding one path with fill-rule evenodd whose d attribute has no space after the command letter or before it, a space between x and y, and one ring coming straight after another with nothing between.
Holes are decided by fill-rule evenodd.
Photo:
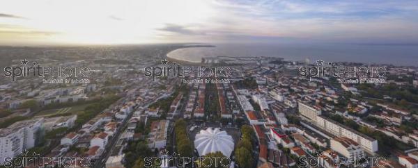
<instances>
[{"instance_id":1,"label":"tall white apartment block at the lower left edge","mask_svg":"<svg viewBox=\"0 0 418 168\"><path fill-rule=\"evenodd\" d=\"M42 131L43 118L18 121L0 129L0 158L13 158L36 145ZM0 159L0 165L4 164Z\"/></svg>"}]
</instances>

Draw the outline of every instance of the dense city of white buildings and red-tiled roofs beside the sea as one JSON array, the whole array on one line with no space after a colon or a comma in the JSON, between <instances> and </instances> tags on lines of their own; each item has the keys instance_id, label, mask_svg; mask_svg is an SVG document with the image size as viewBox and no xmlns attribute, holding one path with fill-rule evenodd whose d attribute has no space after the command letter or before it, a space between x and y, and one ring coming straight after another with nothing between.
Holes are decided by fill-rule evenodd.
<instances>
[{"instance_id":1,"label":"dense city of white buildings and red-tiled roofs beside the sea","mask_svg":"<svg viewBox=\"0 0 418 168\"><path fill-rule=\"evenodd\" d=\"M50 159L45 167L181 167L164 161L175 156L227 158L222 167L418 165L417 67L373 65L385 67L385 83L350 85L334 77L301 77L300 67L317 66L309 60L217 57L181 65L229 67L229 76L218 82L203 71L145 76L146 67L176 62L164 55L183 47L36 49L44 55L32 59L42 66L88 66L89 83L3 78L0 156L9 159L1 165L34 167L15 160L40 156ZM65 53L78 56L54 59ZM87 60L86 53L102 54ZM21 60L11 62L20 66ZM378 159L359 162L369 157ZM323 162L310 165L312 158ZM180 165L196 167L194 162Z\"/></svg>"}]
</instances>

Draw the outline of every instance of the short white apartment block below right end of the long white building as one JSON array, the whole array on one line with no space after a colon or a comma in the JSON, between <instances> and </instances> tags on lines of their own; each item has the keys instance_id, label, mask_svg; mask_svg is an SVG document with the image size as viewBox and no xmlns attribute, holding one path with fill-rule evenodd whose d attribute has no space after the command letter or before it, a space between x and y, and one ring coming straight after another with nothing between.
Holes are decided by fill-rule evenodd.
<instances>
[{"instance_id":1,"label":"short white apartment block below right end of the long white building","mask_svg":"<svg viewBox=\"0 0 418 168\"><path fill-rule=\"evenodd\" d=\"M340 153L350 161L359 160L365 156L362 147L348 137L336 137L330 143L332 150Z\"/></svg>"}]
</instances>

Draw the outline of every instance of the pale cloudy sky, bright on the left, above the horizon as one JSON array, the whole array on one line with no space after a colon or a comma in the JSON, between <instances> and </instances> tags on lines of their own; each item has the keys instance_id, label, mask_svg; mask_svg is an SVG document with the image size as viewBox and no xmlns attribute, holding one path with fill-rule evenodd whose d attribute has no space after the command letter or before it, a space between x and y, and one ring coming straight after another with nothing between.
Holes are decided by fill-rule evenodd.
<instances>
[{"instance_id":1,"label":"pale cloudy sky, bright on the left, above the horizon","mask_svg":"<svg viewBox=\"0 0 418 168\"><path fill-rule=\"evenodd\" d=\"M416 0L0 0L0 44L418 44Z\"/></svg>"}]
</instances>

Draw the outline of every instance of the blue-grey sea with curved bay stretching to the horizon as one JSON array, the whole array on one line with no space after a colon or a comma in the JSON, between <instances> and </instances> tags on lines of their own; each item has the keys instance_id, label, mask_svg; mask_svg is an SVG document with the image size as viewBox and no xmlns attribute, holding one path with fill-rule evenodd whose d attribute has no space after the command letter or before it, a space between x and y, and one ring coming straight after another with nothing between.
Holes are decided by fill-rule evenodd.
<instances>
[{"instance_id":1,"label":"blue-grey sea with curved bay stretching to the horizon","mask_svg":"<svg viewBox=\"0 0 418 168\"><path fill-rule=\"evenodd\" d=\"M285 60L311 62L366 62L418 66L418 45L371 44L215 44L212 48L186 48L169 53L169 57L200 62L202 57L274 56Z\"/></svg>"}]
</instances>

